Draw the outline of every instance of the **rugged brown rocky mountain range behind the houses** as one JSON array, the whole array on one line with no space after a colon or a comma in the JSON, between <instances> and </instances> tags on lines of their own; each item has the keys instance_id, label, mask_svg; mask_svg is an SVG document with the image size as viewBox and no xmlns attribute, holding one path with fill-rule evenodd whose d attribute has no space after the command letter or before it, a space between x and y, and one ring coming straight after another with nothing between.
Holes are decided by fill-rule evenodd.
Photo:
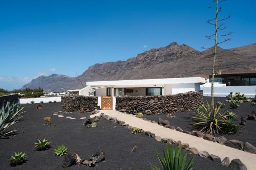
<instances>
[{"instance_id":1,"label":"rugged brown rocky mountain range behind the houses","mask_svg":"<svg viewBox=\"0 0 256 170\"><path fill-rule=\"evenodd\" d=\"M86 81L132 80L153 78L204 77L212 67L212 49L199 52L177 42L153 48L126 61L90 66L78 77L40 76L22 88L42 87L46 91L82 88ZM256 72L256 43L231 49L218 48L216 69L222 73Z\"/></svg>"}]
</instances>

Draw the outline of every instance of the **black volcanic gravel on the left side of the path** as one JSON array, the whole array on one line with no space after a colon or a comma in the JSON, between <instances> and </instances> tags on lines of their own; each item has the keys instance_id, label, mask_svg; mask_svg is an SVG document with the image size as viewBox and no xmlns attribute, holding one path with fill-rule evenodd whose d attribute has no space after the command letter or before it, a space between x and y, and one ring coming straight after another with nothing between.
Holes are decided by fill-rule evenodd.
<instances>
[{"instance_id":1,"label":"black volcanic gravel on the left side of the path","mask_svg":"<svg viewBox=\"0 0 256 170\"><path fill-rule=\"evenodd\" d=\"M98 166L87 167L84 165L73 165L67 169L114 169L122 167L132 170L151 169L150 163L159 165L155 151L162 152L165 143L157 142L146 135L133 135L131 131L110 121L102 119L97 122L97 127L86 128L82 125L82 116L89 113L78 112L64 114L65 116L77 117L71 120L66 117L57 117L53 112L61 110L60 103L44 104L43 110L37 111L36 104L25 105L26 114L23 120L16 125L18 132L24 130L23 134L17 134L13 139L0 139L0 169L62 169L63 157L54 155L54 149L58 144L65 144L68 152L76 152L82 159L91 154L105 151L105 162ZM43 125L43 117L51 116L52 124ZM54 124L56 126L54 126ZM116 126L116 128L114 128ZM22 128L24 127L24 128ZM34 141L46 137L52 141L52 148L47 151L35 151ZM185 142L185 141L184 141ZM134 145L138 145L138 151L131 152ZM11 167L8 159L14 152L26 152L27 162ZM191 158L191 155L188 155ZM194 169L228 169L221 164L209 159L196 156Z\"/></svg>"}]
</instances>

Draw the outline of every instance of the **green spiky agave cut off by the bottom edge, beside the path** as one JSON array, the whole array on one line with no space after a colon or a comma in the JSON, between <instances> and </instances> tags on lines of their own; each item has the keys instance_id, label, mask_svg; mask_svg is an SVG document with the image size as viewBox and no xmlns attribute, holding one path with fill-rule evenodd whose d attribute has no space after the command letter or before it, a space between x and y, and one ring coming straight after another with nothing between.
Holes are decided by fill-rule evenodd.
<instances>
[{"instance_id":1,"label":"green spiky agave cut off by the bottom edge, beside the path","mask_svg":"<svg viewBox=\"0 0 256 170\"><path fill-rule=\"evenodd\" d=\"M163 150L164 157L160 155L158 151L157 157L164 170L191 170L193 169L192 165L194 163L195 156L193 156L187 163L187 153L185 150L181 150L177 145L174 145L172 148L170 144L166 145L166 151ZM160 170L155 165L151 164L153 170Z\"/></svg>"}]
</instances>

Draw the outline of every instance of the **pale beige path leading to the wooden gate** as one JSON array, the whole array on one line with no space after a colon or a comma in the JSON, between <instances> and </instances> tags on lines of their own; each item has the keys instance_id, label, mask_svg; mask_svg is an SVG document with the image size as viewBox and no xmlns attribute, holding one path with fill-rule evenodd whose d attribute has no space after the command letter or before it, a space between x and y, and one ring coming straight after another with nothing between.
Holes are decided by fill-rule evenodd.
<instances>
[{"instance_id":1,"label":"pale beige path leading to the wooden gate","mask_svg":"<svg viewBox=\"0 0 256 170\"><path fill-rule=\"evenodd\" d=\"M101 113L125 122L132 127L140 128L144 131L150 131L161 138L172 138L176 141L181 140L182 143L188 143L190 148L196 148L200 151L207 151L209 154L219 156L221 160L225 157L232 159L240 159L247 166L247 169L256 169L256 154L251 154L238 149L227 147L224 144L205 140L200 137L182 133L162 127L158 124L148 122L137 118L130 114L125 114L116 110L101 110ZM91 116L90 116L91 117Z\"/></svg>"}]
</instances>

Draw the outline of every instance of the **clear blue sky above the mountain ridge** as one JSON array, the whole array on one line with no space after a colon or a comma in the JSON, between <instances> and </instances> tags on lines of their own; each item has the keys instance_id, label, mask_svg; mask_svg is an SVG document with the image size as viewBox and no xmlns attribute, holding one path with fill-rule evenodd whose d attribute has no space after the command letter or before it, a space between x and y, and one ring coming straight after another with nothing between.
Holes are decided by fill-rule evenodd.
<instances>
[{"instance_id":1,"label":"clear blue sky above the mountain ridge","mask_svg":"<svg viewBox=\"0 0 256 170\"><path fill-rule=\"evenodd\" d=\"M0 88L20 88L41 75L80 75L90 65L127 60L170 42L212 46L206 20L212 0L2 1ZM221 16L231 48L256 42L256 1L229 0Z\"/></svg>"}]
</instances>

